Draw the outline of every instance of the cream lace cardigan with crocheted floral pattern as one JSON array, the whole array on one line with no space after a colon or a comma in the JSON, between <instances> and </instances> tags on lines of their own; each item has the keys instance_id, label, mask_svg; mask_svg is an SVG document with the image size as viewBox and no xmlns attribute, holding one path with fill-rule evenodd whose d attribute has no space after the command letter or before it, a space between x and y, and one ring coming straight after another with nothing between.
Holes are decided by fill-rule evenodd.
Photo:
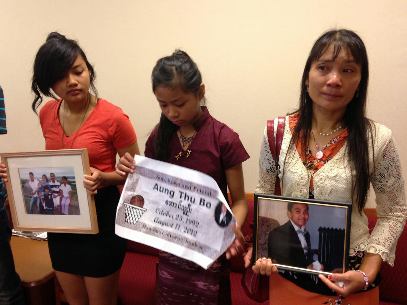
<instances>
[{"instance_id":1,"label":"cream lace cardigan with crocheted floral pattern","mask_svg":"<svg viewBox=\"0 0 407 305\"><path fill-rule=\"evenodd\" d=\"M404 179L401 172L400 159L392 137L392 132L386 126L374 123L376 128L374 138L374 163L372 143L369 142L370 179L376 194L376 211L379 219L372 234L369 235L368 218L359 210L356 203L352 206L352 220L350 227L349 255L357 251L377 253L383 261L394 265L396 243L403 231L406 221L406 200ZM277 119L274 120L274 131L277 130ZM286 117L284 136L280 151L281 173L280 186L282 196L308 198L311 175L303 165L296 149L290 151L287 162L284 159L291 140L289 120ZM352 202L352 175L357 179L348 166L348 155L345 144L336 155L314 174L314 197L320 200ZM290 162L291 160L291 162ZM267 127L264 130L261 144L259 181L256 193L274 194L276 183L276 167L271 155L267 138ZM282 173L284 170L284 185Z\"/></svg>"}]
</instances>

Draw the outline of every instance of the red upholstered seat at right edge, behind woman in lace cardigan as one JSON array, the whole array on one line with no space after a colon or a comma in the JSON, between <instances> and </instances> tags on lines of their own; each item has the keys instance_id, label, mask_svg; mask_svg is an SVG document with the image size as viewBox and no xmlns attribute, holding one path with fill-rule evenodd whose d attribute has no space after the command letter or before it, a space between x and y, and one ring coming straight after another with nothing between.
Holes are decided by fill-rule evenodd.
<instances>
[{"instance_id":1,"label":"red upholstered seat at right edge, behind woman in lace cardigan","mask_svg":"<svg viewBox=\"0 0 407 305\"><path fill-rule=\"evenodd\" d=\"M377 217L368 217L369 231L372 232ZM398 239L394 267L383 263L380 272L382 281L379 285L380 305L407 304L407 226Z\"/></svg>"}]
</instances>

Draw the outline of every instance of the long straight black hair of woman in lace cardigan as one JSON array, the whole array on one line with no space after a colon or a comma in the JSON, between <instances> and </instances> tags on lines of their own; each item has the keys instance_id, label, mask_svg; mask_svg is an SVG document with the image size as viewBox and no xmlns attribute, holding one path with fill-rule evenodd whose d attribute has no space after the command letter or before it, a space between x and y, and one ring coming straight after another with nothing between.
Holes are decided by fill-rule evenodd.
<instances>
[{"instance_id":1,"label":"long straight black hair of woman in lace cardigan","mask_svg":"<svg viewBox=\"0 0 407 305\"><path fill-rule=\"evenodd\" d=\"M339 55L341 48L347 48L352 53L354 60L361 65L359 94L357 94L358 96L355 95L349 102L343 118L343 122L348 126L349 132L347 144L348 159L351 169L355 171L355 177L357 177L354 181L352 176L352 202L357 203L359 213L361 213L369 194L368 133L370 134L370 139L373 144L374 124L372 124L371 120L366 118L366 96L369 81L368 54L362 39L351 30L329 30L315 41L302 74L300 107L288 113L288 115L298 113L298 123L288 149L295 149L294 143L298 141L305 157L305 151L309 145L313 116L313 101L306 91L305 82L309 76L311 65L317 61L331 45L333 46L333 60Z\"/></svg>"}]
</instances>

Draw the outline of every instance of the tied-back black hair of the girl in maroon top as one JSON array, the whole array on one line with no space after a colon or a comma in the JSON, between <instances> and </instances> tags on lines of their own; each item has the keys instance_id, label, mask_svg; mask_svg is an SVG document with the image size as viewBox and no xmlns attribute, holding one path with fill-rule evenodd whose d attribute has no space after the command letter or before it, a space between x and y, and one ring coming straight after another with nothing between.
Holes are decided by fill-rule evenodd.
<instances>
[{"instance_id":1,"label":"tied-back black hair of the girl in maroon top","mask_svg":"<svg viewBox=\"0 0 407 305\"><path fill-rule=\"evenodd\" d=\"M151 73L153 92L159 86L172 89L181 88L185 93L198 94L202 83L201 72L197 64L189 55L181 50L175 50L171 56L160 58ZM205 99L203 99L205 102ZM158 132L155 137L155 158L161 161L168 159L168 143L177 125L168 120L161 113L160 122L157 124Z\"/></svg>"}]
</instances>

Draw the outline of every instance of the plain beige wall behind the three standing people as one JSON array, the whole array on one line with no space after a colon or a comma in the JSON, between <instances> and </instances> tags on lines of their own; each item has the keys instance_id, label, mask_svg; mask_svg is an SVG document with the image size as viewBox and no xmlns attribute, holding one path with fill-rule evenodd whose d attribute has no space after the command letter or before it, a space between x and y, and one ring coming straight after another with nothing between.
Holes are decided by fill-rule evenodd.
<instances>
[{"instance_id":1,"label":"plain beige wall behind the three standing people","mask_svg":"<svg viewBox=\"0 0 407 305\"><path fill-rule=\"evenodd\" d=\"M113 4L114 3L114 4ZM140 150L158 122L155 61L179 47L198 63L211 114L239 133L257 183L267 119L296 106L313 41L332 27L355 30L368 48L370 118L394 132L407 171L407 2L399 1L6 1L0 0L0 84L9 134L0 152L44 149L30 110L33 59L53 30L77 39L97 72L99 95L120 106Z\"/></svg>"}]
</instances>

